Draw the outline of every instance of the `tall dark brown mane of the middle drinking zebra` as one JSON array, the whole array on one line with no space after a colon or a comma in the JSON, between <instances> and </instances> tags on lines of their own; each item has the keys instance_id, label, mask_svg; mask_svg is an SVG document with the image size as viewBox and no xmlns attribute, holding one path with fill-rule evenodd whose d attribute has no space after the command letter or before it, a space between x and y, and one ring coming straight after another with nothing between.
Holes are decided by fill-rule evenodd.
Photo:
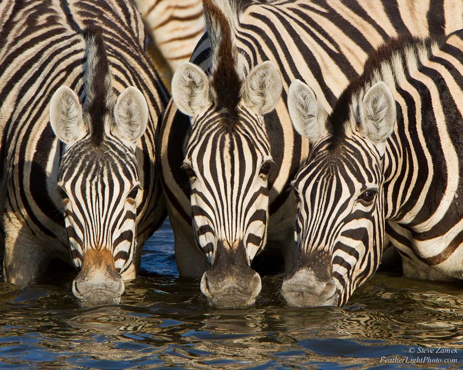
<instances>
[{"instance_id":1,"label":"tall dark brown mane of the middle drinking zebra","mask_svg":"<svg viewBox=\"0 0 463 370\"><path fill-rule=\"evenodd\" d=\"M233 33L236 5L235 1L203 0L212 49L211 95L216 107L225 109L230 115L236 112L243 82L238 74L238 50Z\"/></svg>"}]
</instances>

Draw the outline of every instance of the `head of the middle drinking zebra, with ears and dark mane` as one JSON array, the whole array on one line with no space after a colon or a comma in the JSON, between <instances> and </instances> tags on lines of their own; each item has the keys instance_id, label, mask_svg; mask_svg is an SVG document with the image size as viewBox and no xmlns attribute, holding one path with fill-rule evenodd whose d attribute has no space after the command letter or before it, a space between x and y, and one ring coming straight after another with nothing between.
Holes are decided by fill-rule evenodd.
<instances>
[{"instance_id":1,"label":"head of the middle drinking zebra, with ears and dark mane","mask_svg":"<svg viewBox=\"0 0 463 370\"><path fill-rule=\"evenodd\" d=\"M211 264L201 290L215 307L248 307L261 289L250 265L266 241L269 218L272 156L263 114L274 109L282 83L269 61L247 76L240 73L228 20L212 2L204 5L213 34L211 76L192 63L181 64L172 98L191 120L184 168L192 226Z\"/></svg>"}]
</instances>

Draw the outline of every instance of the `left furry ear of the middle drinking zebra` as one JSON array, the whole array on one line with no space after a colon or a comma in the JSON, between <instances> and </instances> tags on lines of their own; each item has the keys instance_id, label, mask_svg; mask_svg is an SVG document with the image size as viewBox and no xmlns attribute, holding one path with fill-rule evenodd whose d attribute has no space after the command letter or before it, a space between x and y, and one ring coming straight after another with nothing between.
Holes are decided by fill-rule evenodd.
<instances>
[{"instance_id":1,"label":"left furry ear of the middle drinking zebra","mask_svg":"<svg viewBox=\"0 0 463 370\"><path fill-rule=\"evenodd\" d=\"M190 62L178 66L172 77L172 98L175 105L190 117L210 104L209 81L199 66Z\"/></svg>"}]
</instances>

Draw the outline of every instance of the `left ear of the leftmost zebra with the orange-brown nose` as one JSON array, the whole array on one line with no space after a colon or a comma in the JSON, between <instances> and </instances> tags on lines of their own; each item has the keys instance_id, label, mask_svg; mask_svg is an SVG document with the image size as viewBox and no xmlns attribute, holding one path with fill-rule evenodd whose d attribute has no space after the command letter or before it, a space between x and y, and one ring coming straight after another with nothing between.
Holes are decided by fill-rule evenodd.
<instances>
[{"instance_id":1,"label":"left ear of the leftmost zebra with the orange-brown nose","mask_svg":"<svg viewBox=\"0 0 463 370\"><path fill-rule=\"evenodd\" d=\"M79 98L68 86L61 86L55 91L49 113L53 132L63 143L71 145L87 133Z\"/></svg>"}]
</instances>

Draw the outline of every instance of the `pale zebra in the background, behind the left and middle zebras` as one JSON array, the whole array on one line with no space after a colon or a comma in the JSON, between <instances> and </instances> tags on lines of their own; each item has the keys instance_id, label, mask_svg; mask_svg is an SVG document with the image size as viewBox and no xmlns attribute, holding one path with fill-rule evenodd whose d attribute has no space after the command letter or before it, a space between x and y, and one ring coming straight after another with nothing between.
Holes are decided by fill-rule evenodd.
<instances>
[{"instance_id":1,"label":"pale zebra in the background, behind the left and middle zebras","mask_svg":"<svg viewBox=\"0 0 463 370\"><path fill-rule=\"evenodd\" d=\"M188 61L204 33L201 0L134 0L171 73Z\"/></svg>"}]
</instances>

